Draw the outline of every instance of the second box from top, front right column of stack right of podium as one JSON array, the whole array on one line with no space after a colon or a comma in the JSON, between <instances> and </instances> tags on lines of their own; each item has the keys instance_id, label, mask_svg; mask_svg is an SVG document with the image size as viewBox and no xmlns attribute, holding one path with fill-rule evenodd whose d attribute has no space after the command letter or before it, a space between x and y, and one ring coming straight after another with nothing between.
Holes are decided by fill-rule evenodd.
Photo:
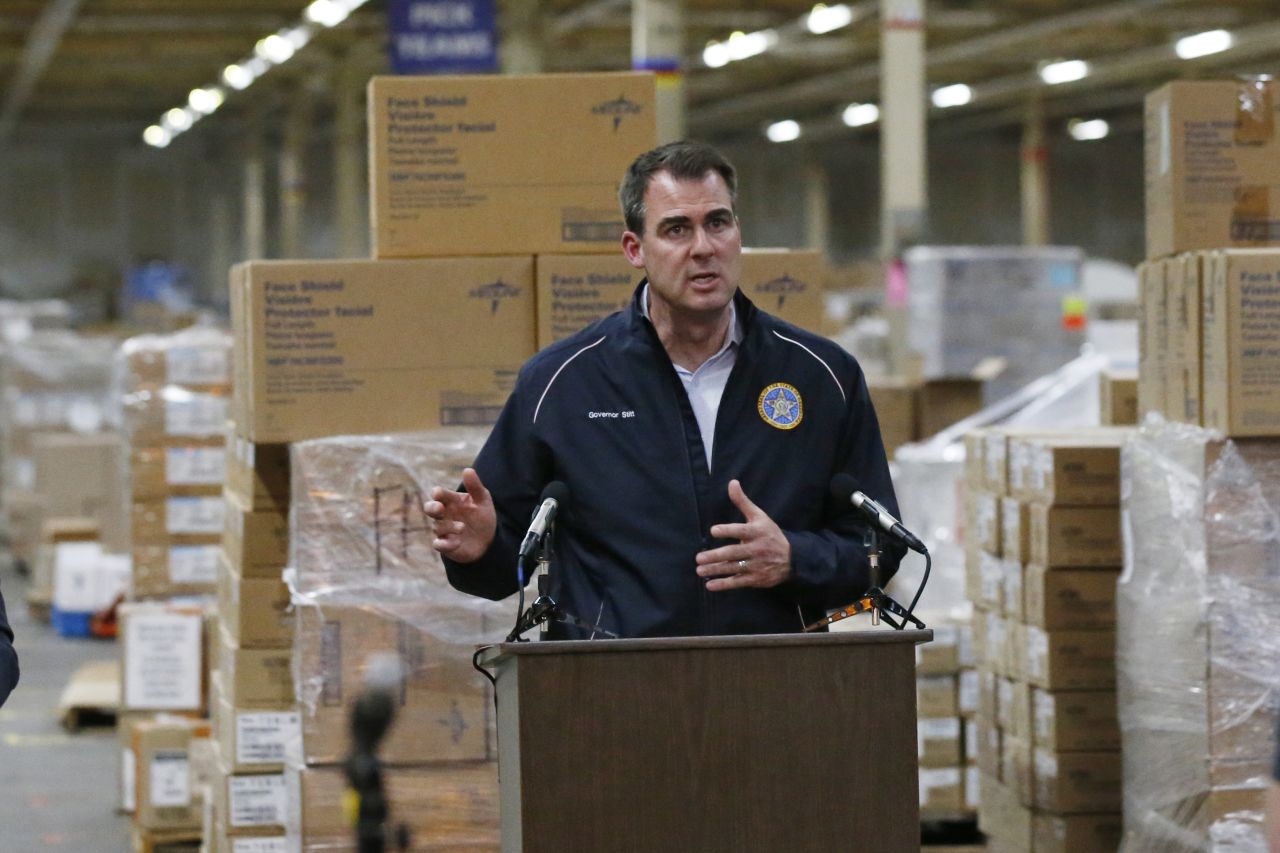
<instances>
[{"instance_id":1,"label":"second box from top, front right column of stack right of podium","mask_svg":"<svg viewBox=\"0 0 1280 853\"><path fill-rule=\"evenodd\" d=\"M1124 562L1120 508L1116 506L1030 505L1033 564L1060 566L1119 566Z\"/></svg>"}]
</instances>

